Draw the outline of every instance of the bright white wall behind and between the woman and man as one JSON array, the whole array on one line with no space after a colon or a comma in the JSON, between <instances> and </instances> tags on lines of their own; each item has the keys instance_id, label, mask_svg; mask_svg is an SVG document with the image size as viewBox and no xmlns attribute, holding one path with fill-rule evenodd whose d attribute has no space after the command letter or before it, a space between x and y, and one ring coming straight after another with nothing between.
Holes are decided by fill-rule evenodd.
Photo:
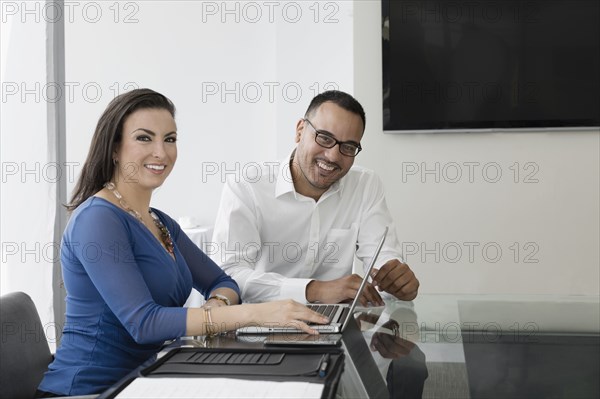
<instances>
[{"instance_id":1,"label":"bright white wall behind and between the woman and man","mask_svg":"<svg viewBox=\"0 0 600 399\"><path fill-rule=\"evenodd\" d=\"M330 3L142 1L117 23L100 3L97 23L66 27L66 80L80 88L67 103L68 159L83 163L117 88L161 91L178 108L179 159L154 206L212 224L228 173L284 157L324 87L352 90L352 3Z\"/></svg>"}]
</instances>

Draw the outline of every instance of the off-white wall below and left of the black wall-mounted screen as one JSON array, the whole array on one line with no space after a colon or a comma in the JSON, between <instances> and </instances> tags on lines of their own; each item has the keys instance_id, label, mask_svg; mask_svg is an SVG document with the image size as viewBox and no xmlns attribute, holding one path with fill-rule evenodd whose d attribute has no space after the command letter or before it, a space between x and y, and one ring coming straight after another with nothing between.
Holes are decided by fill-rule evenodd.
<instances>
[{"instance_id":1,"label":"off-white wall below and left of the black wall-mounted screen","mask_svg":"<svg viewBox=\"0 0 600 399\"><path fill-rule=\"evenodd\" d=\"M383 134L380 4L354 15L359 162L385 183L421 292L598 295L600 133Z\"/></svg>"}]
</instances>

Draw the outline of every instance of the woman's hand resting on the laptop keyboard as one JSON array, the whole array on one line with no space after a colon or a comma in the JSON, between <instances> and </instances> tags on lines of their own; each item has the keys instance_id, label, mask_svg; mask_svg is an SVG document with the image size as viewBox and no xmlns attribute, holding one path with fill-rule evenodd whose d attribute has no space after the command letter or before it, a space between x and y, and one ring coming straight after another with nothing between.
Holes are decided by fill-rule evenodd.
<instances>
[{"instance_id":1,"label":"woman's hand resting on the laptop keyboard","mask_svg":"<svg viewBox=\"0 0 600 399\"><path fill-rule=\"evenodd\" d=\"M242 305L252 309L252 324L260 326L295 327L308 334L318 334L307 322L327 324L329 319L291 299Z\"/></svg>"}]
</instances>

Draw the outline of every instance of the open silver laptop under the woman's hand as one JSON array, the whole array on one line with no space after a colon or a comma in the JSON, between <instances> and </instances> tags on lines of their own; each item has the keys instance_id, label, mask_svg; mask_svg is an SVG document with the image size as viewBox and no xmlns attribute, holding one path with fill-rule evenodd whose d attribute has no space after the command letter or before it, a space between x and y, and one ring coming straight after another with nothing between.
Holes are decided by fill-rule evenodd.
<instances>
[{"instance_id":1,"label":"open silver laptop under the woman's hand","mask_svg":"<svg viewBox=\"0 0 600 399\"><path fill-rule=\"evenodd\" d=\"M379 252L381 251L381 247L383 246L383 242L385 241L385 236L387 235L388 228L385 228L383 232L383 236L379 240L379 244L377 244L377 249L375 250L375 254L373 258L371 258L371 263L369 267L365 271L365 276L363 277L362 283L356 291L356 296L352 301L352 304L348 305L347 303L336 303L336 304L310 304L307 305L310 309L319 312L325 316L327 316L330 320L329 324L310 324L311 328L321 332L321 333L339 333L344 331L344 328L348 325L349 320L352 318L354 313L354 308L359 302L360 294L364 290L367 285L367 281L369 280L369 276L371 275L371 270L373 270L373 266L375 266L375 261L379 256ZM250 326L250 327L242 327L238 328L238 334L265 334L265 333L304 333L304 331L299 330L293 326L282 326L282 325L263 325L263 326Z\"/></svg>"}]
</instances>

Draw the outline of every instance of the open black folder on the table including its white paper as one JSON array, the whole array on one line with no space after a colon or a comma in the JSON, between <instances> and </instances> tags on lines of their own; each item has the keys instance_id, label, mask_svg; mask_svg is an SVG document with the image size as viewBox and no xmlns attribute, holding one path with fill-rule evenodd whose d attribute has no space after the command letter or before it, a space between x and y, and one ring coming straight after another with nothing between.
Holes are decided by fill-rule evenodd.
<instances>
[{"instance_id":1,"label":"open black folder on the table including its white paper","mask_svg":"<svg viewBox=\"0 0 600 399\"><path fill-rule=\"evenodd\" d=\"M173 348L98 399L333 399L344 362L341 348Z\"/></svg>"}]
</instances>

